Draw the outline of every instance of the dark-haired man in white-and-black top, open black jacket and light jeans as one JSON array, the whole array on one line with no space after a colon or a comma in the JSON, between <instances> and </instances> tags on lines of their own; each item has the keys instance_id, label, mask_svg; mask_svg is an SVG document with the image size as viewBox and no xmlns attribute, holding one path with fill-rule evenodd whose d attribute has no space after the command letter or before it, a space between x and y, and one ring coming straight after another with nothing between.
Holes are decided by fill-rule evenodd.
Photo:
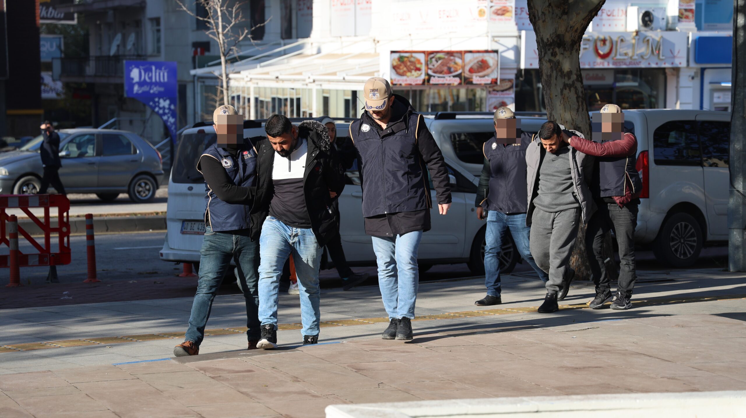
<instances>
[{"instance_id":1,"label":"dark-haired man in white-and-black top, open black jacket and light jeans","mask_svg":"<svg viewBox=\"0 0 746 418\"><path fill-rule=\"evenodd\" d=\"M327 127L304 121L297 127L283 115L272 115L259 137L259 183L254 217L263 221L260 236L260 349L278 346L278 287L283 266L292 255L301 299L303 343L319 341L321 290L319 263L324 246L339 234L331 208L344 183Z\"/></svg>"}]
</instances>

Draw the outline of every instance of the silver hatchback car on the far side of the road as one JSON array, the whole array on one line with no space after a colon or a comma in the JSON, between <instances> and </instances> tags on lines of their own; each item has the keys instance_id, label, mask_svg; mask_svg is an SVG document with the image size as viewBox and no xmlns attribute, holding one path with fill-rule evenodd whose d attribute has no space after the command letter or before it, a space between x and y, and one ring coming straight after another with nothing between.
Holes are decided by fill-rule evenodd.
<instances>
[{"instance_id":1,"label":"silver hatchback car on the far side of the road","mask_svg":"<svg viewBox=\"0 0 746 418\"><path fill-rule=\"evenodd\" d=\"M163 165L145 139L125 130L63 129L60 180L68 193L95 193L101 200L127 193L135 203L155 197ZM18 151L0 154L0 194L35 194L43 172L37 136Z\"/></svg>"}]
</instances>

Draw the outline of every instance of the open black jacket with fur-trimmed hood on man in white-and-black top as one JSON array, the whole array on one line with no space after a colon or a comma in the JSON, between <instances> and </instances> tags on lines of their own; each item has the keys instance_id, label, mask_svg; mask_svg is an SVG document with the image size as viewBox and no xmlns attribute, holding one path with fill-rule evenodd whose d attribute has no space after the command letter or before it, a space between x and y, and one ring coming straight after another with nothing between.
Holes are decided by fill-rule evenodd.
<instances>
[{"instance_id":1,"label":"open black jacket with fur-trimmed hood on man in white-and-black top","mask_svg":"<svg viewBox=\"0 0 746 418\"><path fill-rule=\"evenodd\" d=\"M304 194L308 217L319 246L324 247L330 238L339 232L339 219L331 209L329 191L342 193L343 183L336 151L329 142L327 127L317 121L303 121L298 125L298 136L308 141L306 169L304 172ZM251 209L251 239L259 239L264 220L269 215L272 202L272 165L275 150L266 136L251 138L257 148L257 194Z\"/></svg>"}]
</instances>

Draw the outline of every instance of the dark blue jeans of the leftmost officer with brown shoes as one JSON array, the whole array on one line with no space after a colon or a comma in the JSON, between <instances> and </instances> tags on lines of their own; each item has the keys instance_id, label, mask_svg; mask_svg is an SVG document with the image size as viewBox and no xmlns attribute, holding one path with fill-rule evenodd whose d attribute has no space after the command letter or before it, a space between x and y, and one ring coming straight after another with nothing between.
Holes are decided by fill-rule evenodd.
<instances>
[{"instance_id":1,"label":"dark blue jeans of the leftmost officer with brown shoes","mask_svg":"<svg viewBox=\"0 0 746 418\"><path fill-rule=\"evenodd\" d=\"M225 273L231 269L231 259L236 263L236 279L241 284L246 301L246 335L248 340L258 340L261 336L257 288L259 242L251 241L248 236L213 232L213 229L207 227L199 253L199 282L192 303L192 315L189 317L189 329L186 330L186 341L199 345L204 339L204 326L210 317L215 294Z\"/></svg>"}]
</instances>

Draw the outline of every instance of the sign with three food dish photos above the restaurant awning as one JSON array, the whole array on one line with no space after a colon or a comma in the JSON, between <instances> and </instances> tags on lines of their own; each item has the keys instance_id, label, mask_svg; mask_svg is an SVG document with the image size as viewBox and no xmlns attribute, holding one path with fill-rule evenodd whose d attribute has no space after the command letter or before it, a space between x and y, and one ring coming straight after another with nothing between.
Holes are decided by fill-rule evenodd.
<instances>
[{"instance_id":1,"label":"sign with three food dish photos above the restaurant awning","mask_svg":"<svg viewBox=\"0 0 746 418\"><path fill-rule=\"evenodd\" d=\"M498 51L392 51L394 86L460 86L499 83Z\"/></svg>"}]
</instances>

